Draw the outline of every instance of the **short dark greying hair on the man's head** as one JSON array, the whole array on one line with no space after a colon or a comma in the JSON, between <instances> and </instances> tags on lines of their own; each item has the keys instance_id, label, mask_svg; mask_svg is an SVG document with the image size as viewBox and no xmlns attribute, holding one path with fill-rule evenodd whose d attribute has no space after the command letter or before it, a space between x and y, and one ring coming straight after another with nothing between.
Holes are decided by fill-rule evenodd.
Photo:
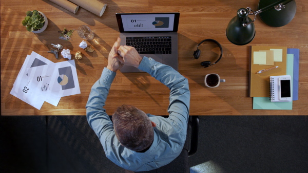
<instances>
[{"instance_id":1,"label":"short dark greying hair on the man's head","mask_svg":"<svg viewBox=\"0 0 308 173\"><path fill-rule=\"evenodd\" d=\"M126 148L140 152L152 144L154 131L151 120L137 107L119 106L112 115L112 122L115 135Z\"/></svg>"}]
</instances>

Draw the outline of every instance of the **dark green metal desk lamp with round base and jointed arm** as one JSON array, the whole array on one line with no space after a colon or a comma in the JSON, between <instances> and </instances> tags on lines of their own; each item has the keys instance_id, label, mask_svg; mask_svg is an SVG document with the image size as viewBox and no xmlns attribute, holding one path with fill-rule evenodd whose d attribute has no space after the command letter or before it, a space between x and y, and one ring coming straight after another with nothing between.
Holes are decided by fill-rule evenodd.
<instances>
[{"instance_id":1,"label":"dark green metal desk lamp with round base and jointed arm","mask_svg":"<svg viewBox=\"0 0 308 173\"><path fill-rule=\"evenodd\" d=\"M287 6L286 6L287 4ZM254 21L256 15L260 14L263 22L272 27L281 27L288 24L296 12L296 3L293 0L260 0L258 11L253 11L250 7L241 8L237 11L237 16L230 20L226 36L235 45L246 45L251 42L256 34ZM251 13L252 12L252 13ZM248 14L255 15L252 20Z\"/></svg>"}]
</instances>

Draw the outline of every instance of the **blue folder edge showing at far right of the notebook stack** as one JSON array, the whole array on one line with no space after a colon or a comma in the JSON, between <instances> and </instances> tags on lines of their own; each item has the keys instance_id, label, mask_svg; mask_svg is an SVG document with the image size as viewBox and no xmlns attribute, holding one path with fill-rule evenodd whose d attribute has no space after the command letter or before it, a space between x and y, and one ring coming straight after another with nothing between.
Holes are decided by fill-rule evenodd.
<instances>
[{"instance_id":1,"label":"blue folder edge showing at far right of the notebook stack","mask_svg":"<svg viewBox=\"0 0 308 173\"><path fill-rule=\"evenodd\" d=\"M287 49L287 54L294 55L293 63L293 100L298 100L299 49Z\"/></svg>"}]
</instances>

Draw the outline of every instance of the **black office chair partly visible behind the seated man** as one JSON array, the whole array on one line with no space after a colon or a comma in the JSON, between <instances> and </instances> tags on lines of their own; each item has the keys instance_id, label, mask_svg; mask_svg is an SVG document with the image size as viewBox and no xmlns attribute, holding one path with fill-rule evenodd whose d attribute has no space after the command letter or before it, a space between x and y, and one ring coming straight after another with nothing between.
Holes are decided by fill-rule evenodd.
<instances>
[{"instance_id":1,"label":"black office chair partly visible behind the seated man","mask_svg":"<svg viewBox=\"0 0 308 173\"><path fill-rule=\"evenodd\" d=\"M163 116L168 117L168 116ZM140 171L138 173L155 173L155 172L189 172L188 157L194 155L198 148L199 117L189 116L187 135L181 154L169 164L150 171ZM125 170L125 173L133 171Z\"/></svg>"}]
</instances>

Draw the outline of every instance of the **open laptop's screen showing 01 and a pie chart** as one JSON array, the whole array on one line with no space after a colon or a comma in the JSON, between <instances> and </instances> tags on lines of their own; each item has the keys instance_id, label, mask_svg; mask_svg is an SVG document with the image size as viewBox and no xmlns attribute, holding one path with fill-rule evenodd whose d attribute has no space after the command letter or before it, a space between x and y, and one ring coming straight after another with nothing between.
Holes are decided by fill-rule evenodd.
<instances>
[{"instance_id":1,"label":"open laptop's screen showing 01 and a pie chart","mask_svg":"<svg viewBox=\"0 0 308 173\"><path fill-rule=\"evenodd\" d=\"M177 32L180 13L117 13L120 32Z\"/></svg>"}]
</instances>

